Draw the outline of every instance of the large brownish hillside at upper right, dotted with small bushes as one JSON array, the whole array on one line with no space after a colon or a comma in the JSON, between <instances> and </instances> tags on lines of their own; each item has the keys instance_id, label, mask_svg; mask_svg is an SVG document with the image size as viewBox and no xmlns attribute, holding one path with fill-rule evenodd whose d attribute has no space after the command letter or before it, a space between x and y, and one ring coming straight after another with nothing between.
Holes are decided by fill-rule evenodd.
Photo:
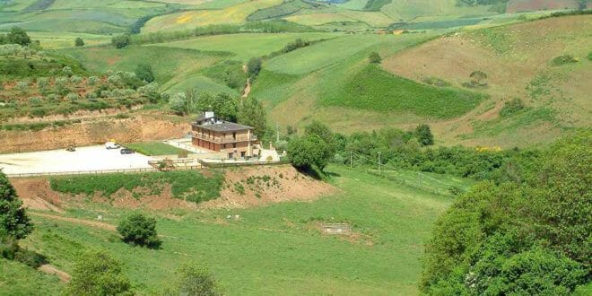
<instances>
[{"instance_id":1,"label":"large brownish hillside at upper right, dotted with small bushes","mask_svg":"<svg viewBox=\"0 0 592 296\"><path fill-rule=\"evenodd\" d=\"M432 40L388 57L384 68L416 81L439 78L457 87L480 70L492 100L455 120L433 122L450 144L512 147L548 143L565 128L589 126L592 112L592 16L551 18L474 30ZM571 55L579 61L553 65ZM504 101L519 98L527 110L500 118ZM530 112L530 113L528 113Z\"/></svg>"}]
</instances>

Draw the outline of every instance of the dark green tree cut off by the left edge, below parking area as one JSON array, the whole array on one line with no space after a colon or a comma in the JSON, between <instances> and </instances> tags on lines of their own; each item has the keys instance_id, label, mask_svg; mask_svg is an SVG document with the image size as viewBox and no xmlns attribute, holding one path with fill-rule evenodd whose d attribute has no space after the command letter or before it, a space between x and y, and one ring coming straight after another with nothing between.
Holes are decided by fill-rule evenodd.
<instances>
[{"instance_id":1,"label":"dark green tree cut off by the left edge, below parking area","mask_svg":"<svg viewBox=\"0 0 592 296\"><path fill-rule=\"evenodd\" d=\"M0 170L0 237L24 239L33 231L33 224L22 208L13 185Z\"/></svg>"}]
</instances>

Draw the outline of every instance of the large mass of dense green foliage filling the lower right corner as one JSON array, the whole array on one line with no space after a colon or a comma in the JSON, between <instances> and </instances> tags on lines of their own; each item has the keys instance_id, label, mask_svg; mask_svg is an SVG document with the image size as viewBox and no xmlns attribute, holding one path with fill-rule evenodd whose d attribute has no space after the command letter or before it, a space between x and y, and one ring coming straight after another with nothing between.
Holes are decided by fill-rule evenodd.
<instances>
[{"instance_id":1,"label":"large mass of dense green foliage filling the lower right corner","mask_svg":"<svg viewBox=\"0 0 592 296\"><path fill-rule=\"evenodd\" d=\"M554 144L523 182L474 187L426 248L429 294L568 295L592 261L592 135Z\"/></svg>"}]
</instances>

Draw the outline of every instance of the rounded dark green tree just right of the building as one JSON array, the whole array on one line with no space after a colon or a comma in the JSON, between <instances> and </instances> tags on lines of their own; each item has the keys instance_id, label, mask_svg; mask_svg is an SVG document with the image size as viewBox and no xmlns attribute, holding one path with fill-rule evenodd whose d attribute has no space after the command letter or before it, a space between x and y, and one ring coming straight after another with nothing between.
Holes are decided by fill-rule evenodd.
<instances>
[{"instance_id":1,"label":"rounded dark green tree just right of the building","mask_svg":"<svg viewBox=\"0 0 592 296\"><path fill-rule=\"evenodd\" d=\"M332 158L329 147L318 135L295 137L288 143L288 155L296 168L309 170L313 167L324 170Z\"/></svg>"}]
</instances>

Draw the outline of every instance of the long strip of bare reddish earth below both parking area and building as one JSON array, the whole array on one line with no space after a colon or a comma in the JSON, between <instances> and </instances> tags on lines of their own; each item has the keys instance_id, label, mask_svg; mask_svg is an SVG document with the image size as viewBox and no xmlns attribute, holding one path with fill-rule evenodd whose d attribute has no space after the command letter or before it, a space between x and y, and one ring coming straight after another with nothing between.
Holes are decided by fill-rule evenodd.
<instances>
[{"instance_id":1,"label":"long strip of bare reddish earth below both parking area and building","mask_svg":"<svg viewBox=\"0 0 592 296\"><path fill-rule=\"evenodd\" d=\"M252 184L248 183L249 178L253 180ZM264 178L268 181L264 181ZM87 198L57 193L51 189L47 178L14 178L11 182L24 206L34 210L63 213L63 209L80 206L80 202ZM244 187L243 193L237 191L237 185ZM162 187L158 194L153 194L152 188L138 187L133 192L120 189L112 196L96 193L91 196L91 200L118 208L198 211L211 208L247 208L284 201L312 201L335 192L337 189L330 184L310 178L292 166L285 165L227 171L221 197L199 205L174 198L169 185Z\"/></svg>"}]
</instances>

